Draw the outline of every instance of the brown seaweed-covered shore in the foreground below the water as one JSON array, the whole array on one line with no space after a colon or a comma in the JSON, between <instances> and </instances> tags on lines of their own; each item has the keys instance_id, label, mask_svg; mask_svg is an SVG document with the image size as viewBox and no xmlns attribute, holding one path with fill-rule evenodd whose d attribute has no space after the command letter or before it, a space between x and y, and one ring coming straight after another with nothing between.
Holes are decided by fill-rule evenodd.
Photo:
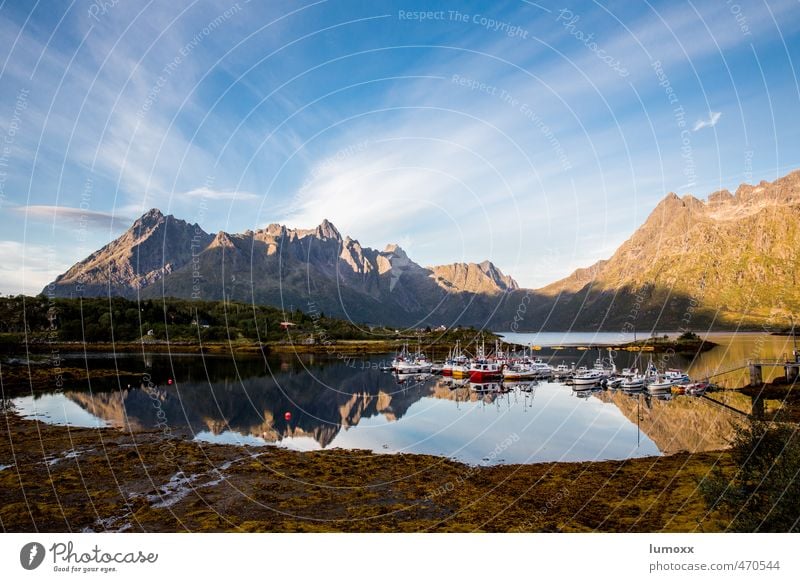
<instances>
[{"instance_id":1,"label":"brown seaweed-covered shore in the foreground below the water","mask_svg":"<svg viewBox=\"0 0 800 582\"><path fill-rule=\"evenodd\" d=\"M729 454L471 466L160 432L0 423L6 531L721 531L697 484ZM13 447L13 450L12 450ZM145 478L143 469L147 471ZM109 486L116 484L116 486ZM701 521L705 517L705 520Z\"/></svg>"}]
</instances>

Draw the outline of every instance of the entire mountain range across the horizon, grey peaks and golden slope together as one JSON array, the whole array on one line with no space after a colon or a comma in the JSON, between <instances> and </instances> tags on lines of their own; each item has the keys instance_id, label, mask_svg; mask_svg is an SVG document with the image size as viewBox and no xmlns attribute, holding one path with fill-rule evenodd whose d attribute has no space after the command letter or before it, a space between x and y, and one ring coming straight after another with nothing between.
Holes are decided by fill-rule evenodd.
<instances>
[{"instance_id":1,"label":"entire mountain range across the horizon, grey peaks and golden slope together","mask_svg":"<svg viewBox=\"0 0 800 582\"><path fill-rule=\"evenodd\" d=\"M707 201L669 193L608 260L524 289L490 261L423 267L327 220L213 235L152 209L45 293L254 301L393 326L782 327L800 302L799 221L800 172Z\"/></svg>"}]
</instances>

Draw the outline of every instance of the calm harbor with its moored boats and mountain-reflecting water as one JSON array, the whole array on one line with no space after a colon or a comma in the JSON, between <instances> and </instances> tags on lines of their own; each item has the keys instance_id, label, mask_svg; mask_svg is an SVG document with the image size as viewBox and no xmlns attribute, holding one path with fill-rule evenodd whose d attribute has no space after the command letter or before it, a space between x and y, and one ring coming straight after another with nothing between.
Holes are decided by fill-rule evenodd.
<instances>
[{"instance_id":1,"label":"calm harbor with its moored boats and mountain-reflecting water","mask_svg":"<svg viewBox=\"0 0 800 582\"><path fill-rule=\"evenodd\" d=\"M680 450L724 449L731 421L754 411L789 414L793 407L782 398L732 389L744 381L724 383L747 375L730 357L741 341L700 356L708 361L582 346L546 354L480 338L457 342L437 359L412 342L394 354L341 358L152 353L142 360L125 353L86 360L65 353L63 369L88 365L88 381L15 393L10 372L29 366L7 365L5 402L15 415L46 423L168 428L171 438L212 445L367 449L481 464L513 433L519 440L492 463L621 460L670 454L675 449L667 443L675 438L687 443ZM783 348L780 338L769 342L765 355ZM714 376L730 368L739 369ZM36 360L30 369L37 377L48 371ZM771 381L773 371L765 369L764 379ZM661 421L642 425L639 416L648 410Z\"/></svg>"}]
</instances>

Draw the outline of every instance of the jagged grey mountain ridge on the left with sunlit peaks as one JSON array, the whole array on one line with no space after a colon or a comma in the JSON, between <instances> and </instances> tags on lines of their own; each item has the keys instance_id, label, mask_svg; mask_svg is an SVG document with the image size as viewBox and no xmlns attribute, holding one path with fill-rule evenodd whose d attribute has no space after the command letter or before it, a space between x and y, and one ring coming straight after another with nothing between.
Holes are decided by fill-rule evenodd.
<instances>
[{"instance_id":1,"label":"jagged grey mountain ridge on the left with sunlit peaks","mask_svg":"<svg viewBox=\"0 0 800 582\"><path fill-rule=\"evenodd\" d=\"M398 245L382 251L313 229L270 224L210 235L153 209L117 240L59 276L56 296L239 300L392 325L481 324L518 285L489 261L422 267Z\"/></svg>"}]
</instances>

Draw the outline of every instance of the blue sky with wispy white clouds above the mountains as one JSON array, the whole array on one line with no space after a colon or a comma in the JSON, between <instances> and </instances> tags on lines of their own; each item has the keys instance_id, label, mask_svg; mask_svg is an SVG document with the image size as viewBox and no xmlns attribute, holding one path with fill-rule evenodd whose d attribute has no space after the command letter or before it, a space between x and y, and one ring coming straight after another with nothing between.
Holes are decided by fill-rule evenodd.
<instances>
[{"instance_id":1,"label":"blue sky with wispy white clouds above the mountains","mask_svg":"<svg viewBox=\"0 0 800 582\"><path fill-rule=\"evenodd\" d=\"M538 287L800 167L795 0L454 5L2 3L0 293L151 207Z\"/></svg>"}]
</instances>

